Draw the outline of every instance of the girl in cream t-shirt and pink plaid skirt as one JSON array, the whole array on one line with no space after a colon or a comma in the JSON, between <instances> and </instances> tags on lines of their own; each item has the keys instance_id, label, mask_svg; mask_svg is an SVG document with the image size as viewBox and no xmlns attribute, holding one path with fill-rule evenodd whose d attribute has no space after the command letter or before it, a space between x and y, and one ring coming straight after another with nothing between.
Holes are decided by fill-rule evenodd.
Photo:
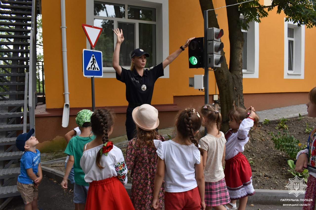
<instances>
[{"instance_id":1,"label":"girl in cream t-shirt and pink plaid skirt","mask_svg":"<svg viewBox=\"0 0 316 210\"><path fill-rule=\"evenodd\" d=\"M201 108L202 125L207 134L199 141L203 150L206 210L226 210L230 202L225 182L223 164L225 160L225 135L221 129L222 115L218 104L206 104Z\"/></svg>"}]
</instances>

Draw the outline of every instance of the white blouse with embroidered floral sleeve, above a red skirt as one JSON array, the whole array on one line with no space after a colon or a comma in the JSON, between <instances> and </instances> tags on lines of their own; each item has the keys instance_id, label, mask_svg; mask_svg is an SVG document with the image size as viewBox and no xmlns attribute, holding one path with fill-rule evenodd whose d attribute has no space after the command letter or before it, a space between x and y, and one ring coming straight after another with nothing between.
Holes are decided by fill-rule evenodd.
<instances>
[{"instance_id":1,"label":"white blouse with embroidered floral sleeve, above a red skirt","mask_svg":"<svg viewBox=\"0 0 316 210\"><path fill-rule=\"evenodd\" d=\"M107 156L102 154L100 163L105 168L101 170L95 163L95 158L102 147L103 144L83 152L80 166L86 174L84 180L90 183L117 176L121 183L125 185L127 183L127 166L122 150L113 145L113 149L109 151Z\"/></svg>"}]
</instances>

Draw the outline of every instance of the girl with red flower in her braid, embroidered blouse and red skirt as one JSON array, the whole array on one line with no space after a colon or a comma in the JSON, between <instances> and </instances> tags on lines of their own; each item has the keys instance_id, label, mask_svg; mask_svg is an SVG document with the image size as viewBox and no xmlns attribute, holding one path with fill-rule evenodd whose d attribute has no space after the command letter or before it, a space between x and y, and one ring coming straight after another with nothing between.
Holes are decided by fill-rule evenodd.
<instances>
[{"instance_id":1,"label":"girl with red flower in her braid, embroidered blouse and red skirt","mask_svg":"<svg viewBox=\"0 0 316 210\"><path fill-rule=\"evenodd\" d=\"M114 125L114 112L96 109L91 116L95 139L83 148L80 166L89 183L86 210L134 209L125 190L127 166L122 151L109 141Z\"/></svg>"}]
</instances>

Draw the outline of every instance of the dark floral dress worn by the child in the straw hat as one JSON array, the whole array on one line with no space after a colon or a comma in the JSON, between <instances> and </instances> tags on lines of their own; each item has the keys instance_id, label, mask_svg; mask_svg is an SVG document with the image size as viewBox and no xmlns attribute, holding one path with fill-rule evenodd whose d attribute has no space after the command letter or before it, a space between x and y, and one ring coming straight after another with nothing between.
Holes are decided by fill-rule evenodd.
<instances>
[{"instance_id":1,"label":"dark floral dress worn by the child in the straw hat","mask_svg":"<svg viewBox=\"0 0 316 210\"><path fill-rule=\"evenodd\" d=\"M158 139L165 141L162 136L158 136ZM137 138L133 138L128 143L126 165L133 178L130 197L135 209L154 209L152 201L157 160L158 155L154 144L151 147L147 144L139 146ZM164 194L163 183L158 196L161 207L164 203Z\"/></svg>"}]
</instances>

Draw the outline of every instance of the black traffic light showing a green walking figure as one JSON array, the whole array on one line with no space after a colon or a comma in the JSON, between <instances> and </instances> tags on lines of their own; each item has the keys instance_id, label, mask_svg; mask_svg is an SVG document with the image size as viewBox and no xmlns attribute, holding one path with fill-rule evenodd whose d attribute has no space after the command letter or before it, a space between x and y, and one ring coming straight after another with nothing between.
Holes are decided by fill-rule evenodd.
<instances>
[{"instance_id":1,"label":"black traffic light showing a green walking figure","mask_svg":"<svg viewBox=\"0 0 316 210\"><path fill-rule=\"evenodd\" d=\"M189 68L203 68L204 37L192 39L188 49Z\"/></svg>"}]
</instances>

